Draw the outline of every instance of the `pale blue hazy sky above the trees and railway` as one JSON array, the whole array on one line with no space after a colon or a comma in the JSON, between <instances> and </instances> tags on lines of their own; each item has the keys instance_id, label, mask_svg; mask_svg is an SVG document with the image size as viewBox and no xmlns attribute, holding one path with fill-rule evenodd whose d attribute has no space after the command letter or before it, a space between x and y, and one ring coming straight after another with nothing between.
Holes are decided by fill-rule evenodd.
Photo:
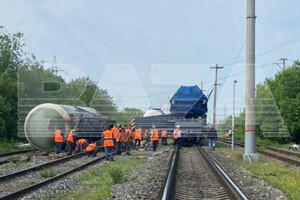
<instances>
[{"instance_id":1,"label":"pale blue hazy sky above the trees and railway","mask_svg":"<svg viewBox=\"0 0 300 200\"><path fill-rule=\"evenodd\" d=\"M89 76L119 108L168 107L180 85L208 94L219 71L218 119L245 96L246 0L0 0L0 25L66 80ZM299 59L300 1L256 1L256 83ZM212 98L209 101L209 121Z\"/></svg>"}]
</instances>

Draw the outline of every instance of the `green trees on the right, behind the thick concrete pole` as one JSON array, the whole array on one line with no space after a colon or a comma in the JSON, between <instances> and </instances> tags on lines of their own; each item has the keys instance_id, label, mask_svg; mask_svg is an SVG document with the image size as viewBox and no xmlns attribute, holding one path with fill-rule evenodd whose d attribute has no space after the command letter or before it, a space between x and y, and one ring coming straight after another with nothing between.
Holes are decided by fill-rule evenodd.
<instances>
[{"instance_id":1,"label":"green trees on the right, behind the thick concrete pole","mask_svg":"<svg viewBox=\"0 0 300 200\"><path fill-rule=\"evenodd\" d=\"M255 134L278 143L300 142L300 61L256 85ZM218 130L231 129L232 116ZM245 111L235 117L235 135L244 139Z\"/></svg>"}]
</instances>

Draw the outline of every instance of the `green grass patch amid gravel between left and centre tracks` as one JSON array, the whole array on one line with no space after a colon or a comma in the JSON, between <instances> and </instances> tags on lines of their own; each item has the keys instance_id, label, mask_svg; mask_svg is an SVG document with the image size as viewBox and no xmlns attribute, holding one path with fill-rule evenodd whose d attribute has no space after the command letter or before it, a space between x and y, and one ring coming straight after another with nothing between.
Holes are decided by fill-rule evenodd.
<instances>
[{"instance_id":1,"label":"green grass patch amid gravel between left and centre tracks","mask_svg":"<svg viewBox=\"0 0 300 200\"><path fill-rule=\"evenodd\" d=\"M107 199L112 195L112 185L138 179L136 176L131 176L131 171L133 167L143 162L144 160L141 159L117 160L105 163L101 168L91 168L79 177L85 190L68 191L52 199Z\"/></svg>"}]
</instances>

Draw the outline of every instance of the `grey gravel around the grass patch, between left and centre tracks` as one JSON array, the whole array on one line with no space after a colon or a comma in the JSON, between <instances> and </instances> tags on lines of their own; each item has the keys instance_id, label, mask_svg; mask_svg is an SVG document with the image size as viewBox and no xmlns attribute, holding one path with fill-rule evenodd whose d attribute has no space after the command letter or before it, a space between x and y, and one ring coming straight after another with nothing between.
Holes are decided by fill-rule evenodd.
<instances>
[{"instance_id":1,"label":"grey gravel around the grass patch, between left and centre tracks","mask_svg":"<svg viewBox=\"0 0 300 200\"><path fill-rule=\"evenodd\" d=\"M136 177L135 180L130 179L131 181L112 186L113 194L110 199L157 199L164 179L167 176L172 150L169 147L162 147L157 152L145 151L139 152L137 155L133 151L132 156L116 156L115 160L146 159L146 162L133 168L131 176ZM98 156L100 155L102 156L102 153L98 154ZM89 191L90 188L81 184L80 175L91 168L101 168L107 162L103 161L94 164L87 169L44 186L19 199L51 199L66 191Z\"/></svg>"}]
</instances>

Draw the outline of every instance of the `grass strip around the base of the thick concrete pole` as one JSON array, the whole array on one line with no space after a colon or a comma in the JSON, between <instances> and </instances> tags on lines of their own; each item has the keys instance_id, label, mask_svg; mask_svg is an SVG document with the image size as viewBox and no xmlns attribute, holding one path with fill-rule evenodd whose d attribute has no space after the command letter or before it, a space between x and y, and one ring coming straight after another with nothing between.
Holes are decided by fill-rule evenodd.
<instances>
[{"instance_id":1,"label":"grass strip around the base of the thick concrete pole","mask_svg":"<svg viewBox=\"0 0 300 200\"><path fill-rule=\"evenodd\" d=\"M289 197L300 200L300 171L289 164L276 159L261 156L258 163L245 163L242 151L232 152L229 148L219 148L219 151L229 157L234 163L249 170L254 178L268 181L282 190Z\"/></svg>"}]
</instances>

